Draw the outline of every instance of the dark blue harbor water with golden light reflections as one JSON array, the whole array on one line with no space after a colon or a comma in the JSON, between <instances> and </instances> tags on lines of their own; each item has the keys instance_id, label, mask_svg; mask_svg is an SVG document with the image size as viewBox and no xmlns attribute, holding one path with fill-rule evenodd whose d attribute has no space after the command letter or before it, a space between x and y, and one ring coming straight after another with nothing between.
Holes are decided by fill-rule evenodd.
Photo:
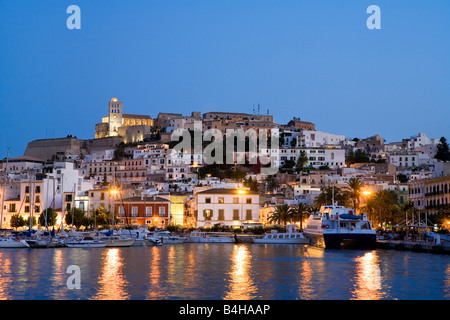
<instances>
[{"instance_id":1,"label":"dark blue harbor water with golden light reflections","mask_svg":"<svg viewBox=\"0 0 450 320\"><path fill-rule=\"evenodd\" d=\"M246 243L1 249L0 299L448 300L450 257Z\"/></svg>"}]
</instances>

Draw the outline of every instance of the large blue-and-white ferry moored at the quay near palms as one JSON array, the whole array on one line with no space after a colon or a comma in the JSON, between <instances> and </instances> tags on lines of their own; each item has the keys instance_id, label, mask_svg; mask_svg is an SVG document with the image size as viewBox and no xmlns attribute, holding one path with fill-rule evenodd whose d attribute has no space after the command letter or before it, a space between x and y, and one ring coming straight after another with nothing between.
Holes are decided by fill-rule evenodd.
<instances>
[{"instance_id":1,"label":"large blue-and-white ferry moored at the quay near palms","mask_svg":"<svg viewBox=\"0 0 450 320\"><path fill-rule=\"evenodd\" d=\"M340 248L342 245L374 247L376 231L365 213L356 215L353 209L338 205L322 206L307 221L304 233L314 245Z\"/></svg>"}]
</instances>

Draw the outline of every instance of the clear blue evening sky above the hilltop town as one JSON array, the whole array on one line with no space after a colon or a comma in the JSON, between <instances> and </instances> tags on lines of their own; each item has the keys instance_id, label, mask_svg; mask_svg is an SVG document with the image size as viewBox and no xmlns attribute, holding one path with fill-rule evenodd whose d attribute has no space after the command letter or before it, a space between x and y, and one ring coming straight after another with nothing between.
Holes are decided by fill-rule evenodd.
<instances>
[{"instance_id":1,"label":"clear blue evening sky above the hilltop town","mask_svg":"<svg viewBox=\"0 0 450 320\"><path fill-rule=\"evenodd\" d=\"M1 0L0 158L94 138L112 97L151 117L259 103L349 138L450 139L449 54L448 0Z\"/></svg>"}]
</instances>

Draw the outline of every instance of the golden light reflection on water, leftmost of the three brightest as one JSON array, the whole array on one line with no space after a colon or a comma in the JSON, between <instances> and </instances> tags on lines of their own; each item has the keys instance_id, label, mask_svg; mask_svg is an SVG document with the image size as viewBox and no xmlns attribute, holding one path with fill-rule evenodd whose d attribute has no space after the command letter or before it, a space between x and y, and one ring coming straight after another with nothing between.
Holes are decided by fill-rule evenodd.
<instances>
[{"instance_id":1,"label":"golden light reflection on water, leftmost of the three brightest","mask_svg":"<svg viewBox=\"0 0 450 320\"><path fill-rule=\"evenodd\" d=\"M125 291L127 281L123 277L123 258L117 248L107 249L102 255L104 260L102 272L99 276L100 288L96 300L122 300L128 299Z\"/></svg>"}]
</instances>

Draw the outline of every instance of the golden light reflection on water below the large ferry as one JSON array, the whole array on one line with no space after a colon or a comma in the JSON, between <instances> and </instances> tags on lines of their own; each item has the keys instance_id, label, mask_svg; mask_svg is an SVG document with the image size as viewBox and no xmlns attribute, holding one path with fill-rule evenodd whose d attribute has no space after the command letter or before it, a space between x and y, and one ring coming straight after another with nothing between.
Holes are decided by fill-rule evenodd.
<instances>
[{"instance_id":1,"label":"golden light reflection on water below the large ferry","mask_svg":"<svg viewBox=\"0 0 450 320\"><path fill-rule=\"evenodd\" d=\"M378 256L375 252L367 252L355 259L356 284L352 299L379 300L383 297L381 271Z\"/></svg>"}]
</instances>

